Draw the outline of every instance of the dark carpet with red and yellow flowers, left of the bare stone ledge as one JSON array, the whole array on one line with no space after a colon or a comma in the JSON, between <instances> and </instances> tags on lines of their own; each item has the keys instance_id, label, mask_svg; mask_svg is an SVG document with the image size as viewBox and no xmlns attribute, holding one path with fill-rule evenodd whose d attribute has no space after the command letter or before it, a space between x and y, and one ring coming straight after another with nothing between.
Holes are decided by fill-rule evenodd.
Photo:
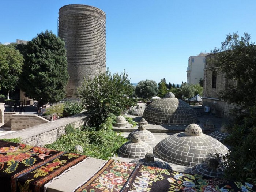
<instances>
[{"instance_id":1,"label":"dark carpet with red and yellow flowers, left of the bare stone ledge","mask_svg":"<svg viewBox=\"0 0 256 192\"><path fill-rule=\"evenodd\" d=\"M0 191L42 192L46 183L86 158L0 140Z\"/></svg>"}]
</instances>

